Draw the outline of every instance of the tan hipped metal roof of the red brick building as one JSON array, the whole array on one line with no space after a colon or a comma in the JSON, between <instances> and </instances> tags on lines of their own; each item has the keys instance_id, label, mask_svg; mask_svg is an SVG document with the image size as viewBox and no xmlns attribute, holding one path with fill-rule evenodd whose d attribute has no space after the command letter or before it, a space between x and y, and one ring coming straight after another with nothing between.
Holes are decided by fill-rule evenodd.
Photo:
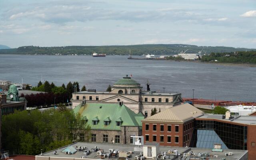
<instances>
[{"instance_id":1,"label":"tan hipped metal roof of the red brick building","mask_svg":"<svg viewBox=\"0 0 256 160\"><path fill-rule=\"evenodd\" d=\"M192 106L191 104L181 104L168 108L160 113L142 120L142 122L173 122L184 123L186 120L203 115L204 112Z\"/></svg>"}]
</instances>

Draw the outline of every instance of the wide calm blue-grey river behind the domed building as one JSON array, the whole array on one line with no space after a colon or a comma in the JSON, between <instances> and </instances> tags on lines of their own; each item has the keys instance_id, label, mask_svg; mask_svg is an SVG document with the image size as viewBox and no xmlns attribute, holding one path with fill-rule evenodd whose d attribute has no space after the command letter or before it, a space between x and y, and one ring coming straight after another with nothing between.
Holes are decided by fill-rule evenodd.
<instances>
[{"instance_id":1,"label":"wide calm blue-grey river behind the domed building","mask_svg":"<svg viewBox=\"0 0 256 160\"><path fill-rule=\"evenodd\" d=\"M37 85L41 80L56 85L78 81L80 86L106 90L126 74L146 89L180 92L183 97L256 101L256 68L195 62L128 60L127 56L32 56L1 55L0 80Z\"/></svg>"}]
</instances>

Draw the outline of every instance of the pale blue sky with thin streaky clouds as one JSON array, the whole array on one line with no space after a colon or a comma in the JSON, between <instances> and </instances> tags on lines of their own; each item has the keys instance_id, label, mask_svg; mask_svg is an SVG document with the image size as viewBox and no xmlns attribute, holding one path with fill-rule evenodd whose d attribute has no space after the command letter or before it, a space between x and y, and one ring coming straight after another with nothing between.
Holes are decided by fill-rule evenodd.
<instances>
[{"instance_id":1,"label":"pale blue sky with thin streaky clouds","mask_svg":"<svg viewBox=\"0 0 256 160\"><path fill-rule=\"evenodd\" d=\"M256 0L0 0L0 44L256 48Z\"/></svg>"}]
</instances>

